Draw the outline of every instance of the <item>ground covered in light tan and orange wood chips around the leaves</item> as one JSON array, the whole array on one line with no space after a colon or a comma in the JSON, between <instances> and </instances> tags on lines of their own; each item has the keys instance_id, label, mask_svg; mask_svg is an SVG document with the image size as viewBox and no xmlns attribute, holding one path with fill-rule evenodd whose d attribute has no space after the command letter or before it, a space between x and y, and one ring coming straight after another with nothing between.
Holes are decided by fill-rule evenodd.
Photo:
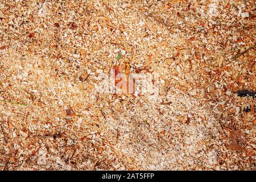
<instances>
[{"instance_id":1,"label":"ground covered in light tan and orange wood chips around the leaves","mask_svg":"<svg viewBox=\"0 0 256 182\"><path fill-rule=\"evenodd\" d=\"M94 92L122 64L158 98ZM252 0L0 0L0 169L253 170L255 69Z\"/></svg>"}]
</instances>

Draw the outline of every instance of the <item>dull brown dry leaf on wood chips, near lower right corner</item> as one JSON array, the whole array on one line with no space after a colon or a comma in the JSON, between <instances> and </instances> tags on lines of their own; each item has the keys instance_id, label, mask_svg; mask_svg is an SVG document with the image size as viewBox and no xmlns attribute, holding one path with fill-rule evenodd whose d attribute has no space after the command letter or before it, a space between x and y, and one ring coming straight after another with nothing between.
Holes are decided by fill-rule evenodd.
<instances>
[{"instance_id":1,"label":"dull brown dry leaf on wood chips, near lower right corner","mask_svg":"<svg viewBox=\"0 0 256 182\"><path fill-rule=\"evenodd\" d=\"M232 131L230 129L227 129L229 131L228 133L228 147L232 150L238 150L246 153L246 149L243 148L239 143L245 143L245 135L242 133L241 130L235 130Z\"/></svg>"}]
</instances>

